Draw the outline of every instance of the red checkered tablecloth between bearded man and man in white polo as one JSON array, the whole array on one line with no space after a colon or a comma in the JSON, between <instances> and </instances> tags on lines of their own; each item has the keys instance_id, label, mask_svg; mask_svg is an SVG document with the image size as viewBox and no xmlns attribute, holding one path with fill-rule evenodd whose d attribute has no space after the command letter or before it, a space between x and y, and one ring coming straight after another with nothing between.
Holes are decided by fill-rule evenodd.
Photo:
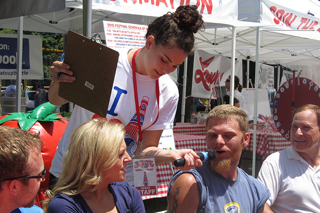
<instances>
[{"instance_id":1,"label":"red checkered tablecloth between bearded man and man in white polo","mask_svg":"<svg viewBox=\"0 0 320 213\"><path fill-rule=\"evenodd\" d=\"M249 131L250 142L244 150L253 151L253 131ZM281 151L288 148L291 143L285 139L280 132L269 132L269 131L259 131L257 130L257 140L256 140L256 153L262 156L262 161L264 161L269 155L274 152Z\"/></svg>"}]
</instances>

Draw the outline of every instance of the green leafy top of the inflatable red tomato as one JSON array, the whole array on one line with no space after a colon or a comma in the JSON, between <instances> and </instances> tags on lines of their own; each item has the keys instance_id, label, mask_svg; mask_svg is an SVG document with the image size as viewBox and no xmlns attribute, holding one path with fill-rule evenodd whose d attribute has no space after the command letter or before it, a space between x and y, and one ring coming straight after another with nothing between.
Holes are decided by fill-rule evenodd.
<instances>
[{"instance_id":1,"label":"green leafy top of the inflatable red tomato","mask_svg":"<svg viewBox=\"0 0 320 213\"><path fill-rule=\"evenodd\" d=\"M53 113L56 110L56 106L50 102L45 102L32 111L26 113L15 112L9 113L9 116L0 120L0 125L7 121L17 120L21 129L29 130L36 124L37 121L44 122L56 122L56 119L66 118L57 117L61 113Z\"/></svg>"}]
</instances>

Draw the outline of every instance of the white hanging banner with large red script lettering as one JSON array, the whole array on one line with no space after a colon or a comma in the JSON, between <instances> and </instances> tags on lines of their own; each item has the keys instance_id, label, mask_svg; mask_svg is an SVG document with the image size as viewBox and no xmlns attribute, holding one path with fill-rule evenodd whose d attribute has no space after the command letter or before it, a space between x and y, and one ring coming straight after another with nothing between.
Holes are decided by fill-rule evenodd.
<instances>
[{"instance_id":1,"label":"white hanging banner with large red script lettering","mask_svg":"<svg viewBox=\"0 0 320 213\"><path fill-rule=\"evenodd\" d=\"M241 83L242 60L236 61L235 73L236 76L240 78ZM210 98L211 91L215 85L219 84L219 80L220 84L223 86L230 75L230 58L222 55L213 55L204 50L196 50L191 96L198 98ZM216 95L214 93L211 99L216 99Z\"/></svg>"}]
</instances>

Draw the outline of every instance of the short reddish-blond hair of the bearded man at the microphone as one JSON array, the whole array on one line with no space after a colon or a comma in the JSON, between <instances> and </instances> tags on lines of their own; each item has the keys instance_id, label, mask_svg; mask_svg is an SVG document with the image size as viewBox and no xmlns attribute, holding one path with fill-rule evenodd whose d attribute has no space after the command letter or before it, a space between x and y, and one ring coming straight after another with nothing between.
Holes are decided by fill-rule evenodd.
<instances>
[{"instance_id":1,"label":"short reddish-blond hair of the bearded man at the microphone","mask_svg":"<svg viewBox=\"0 0 320 213\"><path fill-rule=\"evenodd\" d=\"M225 119L227 121L235 119L242 134L248 132L248 116L242 109L230 104L218 105L209 112L205 121L206 131L208 130L208 122L210 119Z\"/></svg>"}]
</instances>

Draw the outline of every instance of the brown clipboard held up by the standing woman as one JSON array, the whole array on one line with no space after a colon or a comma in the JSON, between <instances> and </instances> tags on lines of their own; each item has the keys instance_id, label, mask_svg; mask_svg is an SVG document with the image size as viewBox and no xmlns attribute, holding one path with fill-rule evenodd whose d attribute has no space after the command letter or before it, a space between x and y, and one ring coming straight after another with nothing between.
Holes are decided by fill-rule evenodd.
<instances>
[{"instance_id":1,"label":"brown clipboard held up by the standing woman","mask_svg":"<svg viewBox=\"0 0 320 213\"><path fill-rule=\"evenodd\" d=\"M118 59L116 50L69 31L64 62L70 65L76 81L61 82L59 96L106 117Z\"/></svg>"}]
</instances>

